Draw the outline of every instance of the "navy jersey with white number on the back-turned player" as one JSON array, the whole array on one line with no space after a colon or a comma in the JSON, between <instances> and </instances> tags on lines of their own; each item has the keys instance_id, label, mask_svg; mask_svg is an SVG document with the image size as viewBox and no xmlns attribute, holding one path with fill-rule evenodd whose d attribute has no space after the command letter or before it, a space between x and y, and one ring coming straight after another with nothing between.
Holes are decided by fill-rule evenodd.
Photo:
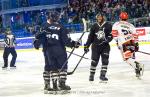
<instances>
[{"instance_id":1,"label":"navy jersey with white number on the back-turned player","mask_svg":"<svg viewBox=\"0 0 150 97\"><path fill-rule=\"evenodd\" d=\"M62 25L57 23L44 23L42 32L36 36L43 44L43 49L51 49L51 54L59 55L66 53L65 46L73 47L73 42L68 37L68 31Z\"/></svg>"}]
</instances>

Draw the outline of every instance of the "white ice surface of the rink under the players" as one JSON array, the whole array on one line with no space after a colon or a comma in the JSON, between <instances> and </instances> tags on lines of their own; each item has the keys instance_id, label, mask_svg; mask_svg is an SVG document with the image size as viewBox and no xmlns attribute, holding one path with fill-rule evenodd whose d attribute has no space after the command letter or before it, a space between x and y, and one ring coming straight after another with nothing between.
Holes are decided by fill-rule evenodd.
<instances>
[{"instance_id":1,"label":"white ice surface of the rink under the players","mask_svg":"<svg viewBox=\"0 0 150 97\"><path fill-rule=\"evenodd\" d=\"M150 51L150 45L140 46L141 51ZM69 49L67 49L69 50ZM134 69L123 62L117 47L112 47L107 77L108 83L99 83L99 63L95 81L90 83L90 60L83 59L73 75L68 75L67 84L72 90L69 94L43 93L44 59L41 50L17 50L18 57L15 70L0 69L0 97L150 97L150 56L136 53L137 60L145 64L142 79L135 77ZM76 54L83 54L83 48L76 49ZM2 51L0 67L3 65ZM91 53L85 57L90 58ZM11 56L9 57L9 60ZM68 71L72 71L79 57L72 55L69 59Z\"/></svg>"}]
</instances>

